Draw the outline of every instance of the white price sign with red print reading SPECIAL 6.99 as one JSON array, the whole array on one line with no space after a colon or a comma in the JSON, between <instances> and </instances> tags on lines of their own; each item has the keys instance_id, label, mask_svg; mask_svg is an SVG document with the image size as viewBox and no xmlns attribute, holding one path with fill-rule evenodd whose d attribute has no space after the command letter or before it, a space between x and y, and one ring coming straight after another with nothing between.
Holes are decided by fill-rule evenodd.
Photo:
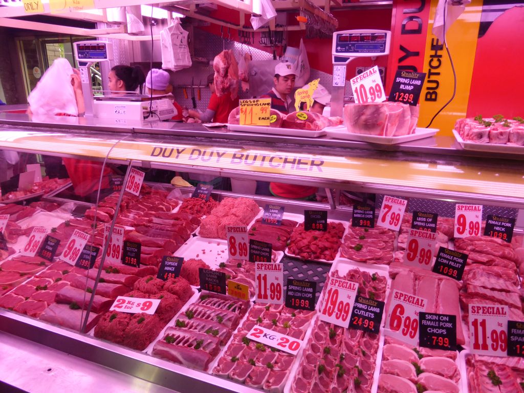
<instances>
[{"instance_id":1,"label":"white price sign with red print reading SPECIAL 6.99","mask_svg":"<svg viewBox=\"0 0 524 393\"><path fill-rule=\"evenodd\" d=\"M419 312L426 310L426 303L426 299L395 289L386 317L386 335L417 346Z\"/></svg>"}]
</instances>

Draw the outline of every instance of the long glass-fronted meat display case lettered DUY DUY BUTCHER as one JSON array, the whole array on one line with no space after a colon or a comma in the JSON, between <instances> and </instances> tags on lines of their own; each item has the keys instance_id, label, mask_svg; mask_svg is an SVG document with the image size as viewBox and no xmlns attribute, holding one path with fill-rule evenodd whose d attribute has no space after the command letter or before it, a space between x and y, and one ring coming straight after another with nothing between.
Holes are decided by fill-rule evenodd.
<instances>
[{"instance_id":1,"label":"long glass-fronted meat display case lettered DUY DUY BUTCHER","mask_svg":"<svg viewBox=\"0 0 524 393\"><path fill-rule=\"evenodd\" d=\"M0 148L3 203L45 170L0 206L15 339L180 392L524 382L521 155L9 114Z\"/></svg>"}]
</instances>

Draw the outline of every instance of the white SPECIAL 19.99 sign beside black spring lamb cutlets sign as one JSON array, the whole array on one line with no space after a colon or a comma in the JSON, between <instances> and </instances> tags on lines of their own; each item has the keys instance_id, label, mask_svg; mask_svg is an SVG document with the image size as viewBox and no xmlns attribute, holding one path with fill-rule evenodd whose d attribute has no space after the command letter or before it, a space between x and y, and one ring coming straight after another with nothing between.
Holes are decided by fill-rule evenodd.
<instances>
[{"instance_id":1,"label":"white SPECIAL 19.99 sign beside black spring lamb cutlets sign","mask_svg":"<svg viewBox=\"0 0 524 393\"><path fill-rule=\"evenodd\" d=\"M347 328L357 289L356 282L329 277L320 304L320 320Z\"/></svg>"}]
</instances>

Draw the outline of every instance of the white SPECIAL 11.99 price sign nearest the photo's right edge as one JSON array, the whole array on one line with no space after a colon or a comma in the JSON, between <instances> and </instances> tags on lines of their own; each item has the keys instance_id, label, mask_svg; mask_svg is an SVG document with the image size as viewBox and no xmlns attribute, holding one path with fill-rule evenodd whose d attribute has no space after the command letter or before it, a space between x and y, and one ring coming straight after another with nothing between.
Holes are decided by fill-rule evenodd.
<instances>
[{"instance_id":1,"label":"white SPECIAL 11.99 price sign nearest the photo's right edge","mask_svg":"<svg viewBox=\"0 0 524 393\"><path fill-rule=\"evenodd\" d=\"M476 355L508 355L507 305L470 304L470 352Z\"/></svg>"}]
</instances>

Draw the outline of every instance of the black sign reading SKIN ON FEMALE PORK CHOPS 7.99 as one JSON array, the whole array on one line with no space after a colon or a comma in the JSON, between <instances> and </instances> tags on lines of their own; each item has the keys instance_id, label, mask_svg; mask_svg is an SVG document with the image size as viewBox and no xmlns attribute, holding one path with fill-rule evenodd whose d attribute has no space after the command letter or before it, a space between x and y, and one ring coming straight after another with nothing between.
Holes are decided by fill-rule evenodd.
<instances>
[{"instance_id":1,"label":"black sign reading SKIN ON FEMALE PORK CHOPS 7.99","mask_svg":"<svg viewBox=\"0 0 524 393\"><path fill-rule=\"evenodd\" d=\"M456 315L419 313L419 346L434 350L456 351Z\"/></svg>"}]
</instances>

